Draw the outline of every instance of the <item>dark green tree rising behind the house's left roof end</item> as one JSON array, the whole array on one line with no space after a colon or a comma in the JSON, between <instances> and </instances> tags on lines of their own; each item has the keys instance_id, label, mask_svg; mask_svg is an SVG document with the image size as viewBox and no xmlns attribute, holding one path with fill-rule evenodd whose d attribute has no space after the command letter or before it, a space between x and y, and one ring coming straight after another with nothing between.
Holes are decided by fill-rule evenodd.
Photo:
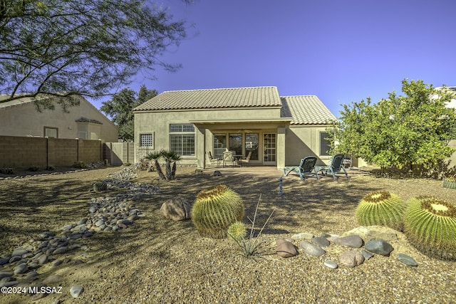
<instances>
[{"instance_id":1,"label":"dark green tree rising behind the house's left roof end","mask_svg":"<svg viewBox=\"0 0 456 304\"><path fill-rule=\"evenodd\" d=\"M134 139L134 116L133 108L145 103L156 96L157 90L147 90L142 85L136 98L136 93L131 89L120 90L113 95L113 99L102 103L100 110L109 115L113 122L119 126L119 137L123 140Z\"/></svg>"}]
</instances>

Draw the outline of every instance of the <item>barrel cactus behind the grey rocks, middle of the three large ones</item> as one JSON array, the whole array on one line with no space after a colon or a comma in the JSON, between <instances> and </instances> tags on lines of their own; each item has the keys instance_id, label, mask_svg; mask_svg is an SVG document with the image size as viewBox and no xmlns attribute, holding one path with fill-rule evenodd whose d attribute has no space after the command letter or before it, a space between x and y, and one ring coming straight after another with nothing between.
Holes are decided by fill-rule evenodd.
<instances>
[{"instance_id":1,"label":"barrel cactus behind the grey rocks, middle of the three large ones","mask_svg":"<svg viewBox=\"0 0 456 304\"><path fill-rule=\"evenodd\" d=\"M406 208L405 201L395 194L387 191L371 192L358 204L356 217L363 226L388 226L402 231Z\"/></svg>"}]
</instances>

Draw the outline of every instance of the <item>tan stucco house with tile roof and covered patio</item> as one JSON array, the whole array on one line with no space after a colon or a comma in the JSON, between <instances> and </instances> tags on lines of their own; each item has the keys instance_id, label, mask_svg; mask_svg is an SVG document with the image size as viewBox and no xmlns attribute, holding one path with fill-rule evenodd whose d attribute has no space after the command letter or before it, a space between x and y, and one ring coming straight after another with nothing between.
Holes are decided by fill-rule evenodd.
<instances>
[{"instance_id":1,"label":"tan stucco house with tile roof and covered patio","mask_svg":"<svg viewBox=\"0 0 456 304\"><path fill-rule=\"evenodd\" d=\"M316 155L327 163L328 123L336 117L314 95L283 96L276 87L180 90L133 109L135 162L173 150L181 164L207 166L207 152L252 152L249 164L278 169Z\"/></svg>"}]
</instances>

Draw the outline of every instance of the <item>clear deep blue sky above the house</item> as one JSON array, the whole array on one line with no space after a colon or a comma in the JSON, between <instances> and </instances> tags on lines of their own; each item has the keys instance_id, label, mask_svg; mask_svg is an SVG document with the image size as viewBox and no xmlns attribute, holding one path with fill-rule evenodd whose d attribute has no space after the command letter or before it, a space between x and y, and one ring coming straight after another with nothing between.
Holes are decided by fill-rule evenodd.
<instances>
[{"instance_id":1,"label":"clear deep blue sky above the house","mask_svg":"<svg viewBox=\"0 0 456 304\"><path fill-rule=\"evenodd\" d=\"M140 85L165 90L274 85L280 95L340 104L400 93L401 80L456 85L454 0L165 0L187 38ZM100 101L94 103L100 108Z\"/></svg>"}]
</instances>

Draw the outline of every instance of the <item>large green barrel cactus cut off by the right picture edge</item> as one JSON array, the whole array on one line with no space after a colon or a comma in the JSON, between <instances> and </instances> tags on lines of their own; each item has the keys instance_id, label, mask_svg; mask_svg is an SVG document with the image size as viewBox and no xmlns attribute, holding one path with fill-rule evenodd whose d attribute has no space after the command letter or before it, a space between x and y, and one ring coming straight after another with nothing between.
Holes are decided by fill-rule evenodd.
<instances>
[{"instance_id":1,"label":"large green barrel cactus cut off by the right picture edge","mask_svg":"<svg viewBox=\"0 0 456 304\"><path fill-rule=\"evenodd\" d=\"M404 219L410 243L427 256L456 260L456 205L433 196L409 202Z\"/></svg>"}]
</instances>

